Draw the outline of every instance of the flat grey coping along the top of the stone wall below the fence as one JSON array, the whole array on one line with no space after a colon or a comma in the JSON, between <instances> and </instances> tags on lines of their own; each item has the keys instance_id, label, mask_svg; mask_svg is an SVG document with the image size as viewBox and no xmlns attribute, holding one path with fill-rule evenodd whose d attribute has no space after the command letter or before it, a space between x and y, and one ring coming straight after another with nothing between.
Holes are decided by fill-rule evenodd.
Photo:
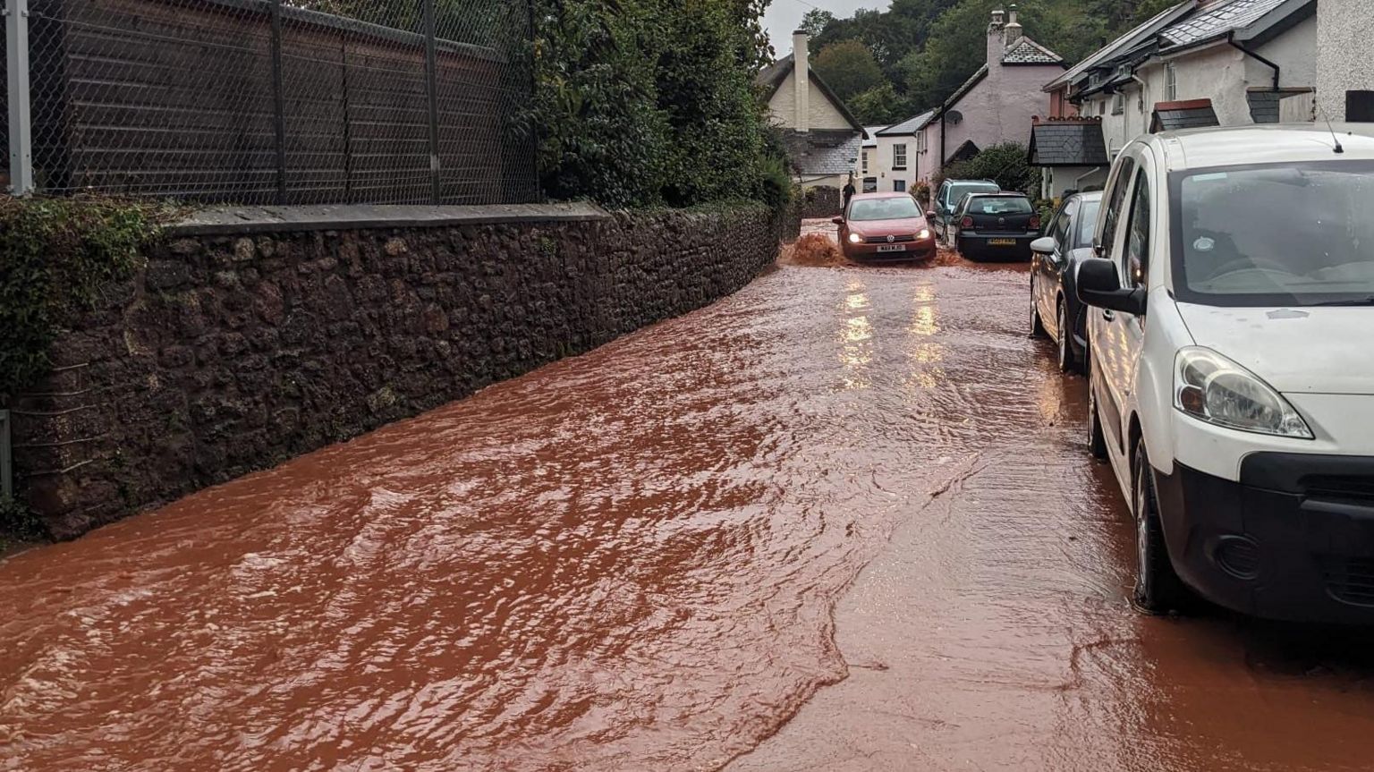
<instances>
[{"instance_id":1,"label":"flat grey coping along the top of the stone wall below the fence","mask_svg":"<svg viewBox=\"0 0 1374 772\"><path fill-rule=\"evenodd\" d=\"M513 203L482 206L367 205L216 206L168 227L172 236L229 236L295 231L444 228L503 223L584 223L610 220L594 203Z\"/></svg>"}]
</instances>

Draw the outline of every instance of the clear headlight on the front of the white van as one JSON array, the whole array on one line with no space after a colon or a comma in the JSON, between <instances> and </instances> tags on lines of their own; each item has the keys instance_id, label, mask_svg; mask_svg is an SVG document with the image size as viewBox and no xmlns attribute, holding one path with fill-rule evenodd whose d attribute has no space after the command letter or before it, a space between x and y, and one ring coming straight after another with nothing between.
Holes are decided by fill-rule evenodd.
<instances>
[{"instance_id":1,"label":"clear headlight on the front of the white van","mask_svg":"<svg viewBox=\"0 0 1374 772\"><path fill-rule=\"evenodd\" d=\"M1227 429L1312 440L1312 430L1272 386L1212 349L1179 352L1173 407Z\"/></svg>"}]
</instances>

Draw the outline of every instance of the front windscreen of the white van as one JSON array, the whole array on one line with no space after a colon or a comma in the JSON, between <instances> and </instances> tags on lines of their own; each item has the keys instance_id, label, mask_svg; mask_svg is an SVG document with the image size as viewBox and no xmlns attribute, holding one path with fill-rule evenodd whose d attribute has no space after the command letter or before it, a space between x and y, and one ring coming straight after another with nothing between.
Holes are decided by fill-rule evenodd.
<instances>
[{"instance_id":1,"label":"front windscreen of the white van","mask_svg":"<svg viewBox=\"0 0 1374 772\"><path fill-rule=\"evenodd\" d=\"M1171 174L1179 299L1374 305L1374 162Z\"/></svg>"}]
</instances>

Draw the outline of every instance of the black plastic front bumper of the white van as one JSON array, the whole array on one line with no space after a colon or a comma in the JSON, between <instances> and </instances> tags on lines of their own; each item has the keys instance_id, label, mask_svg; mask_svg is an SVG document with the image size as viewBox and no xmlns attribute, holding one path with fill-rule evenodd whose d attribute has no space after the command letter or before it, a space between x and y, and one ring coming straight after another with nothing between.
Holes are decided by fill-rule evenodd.
<instances>
[{"instance_id":1,"label":"black plastic front bumper of the white van","mask_svg":"<svg viewBox=\"0 0 1374 772\"><path fill-rule=\"evenodd\" d=\"M1156 471L1179 577L1270 620L1374 624L1374 456L1252 453L1239 482Z\"/></svg>"}]
</instances>

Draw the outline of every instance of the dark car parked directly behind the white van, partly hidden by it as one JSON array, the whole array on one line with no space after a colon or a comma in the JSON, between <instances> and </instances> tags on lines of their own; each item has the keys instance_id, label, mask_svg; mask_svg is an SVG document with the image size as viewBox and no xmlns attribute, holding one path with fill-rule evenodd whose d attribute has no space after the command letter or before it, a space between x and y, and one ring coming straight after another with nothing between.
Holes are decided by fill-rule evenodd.
<instances>
[{"instance_id":1,"label":"dark car parked directly behind the white van, partly hidden by it","mask_svg":"<svg viewBox=\"0 0 1374 772\"><path fill-rule=\"evenodd\" d=\"M1087 361L1087 316L1073 290L1073 276L1079 262L1092 257L1092 228L1101 203L1101 192L1065 198L1046 236L1030 242L1030 334L1054 341L1063 372Z\"/></svg>"}]
</instances>

